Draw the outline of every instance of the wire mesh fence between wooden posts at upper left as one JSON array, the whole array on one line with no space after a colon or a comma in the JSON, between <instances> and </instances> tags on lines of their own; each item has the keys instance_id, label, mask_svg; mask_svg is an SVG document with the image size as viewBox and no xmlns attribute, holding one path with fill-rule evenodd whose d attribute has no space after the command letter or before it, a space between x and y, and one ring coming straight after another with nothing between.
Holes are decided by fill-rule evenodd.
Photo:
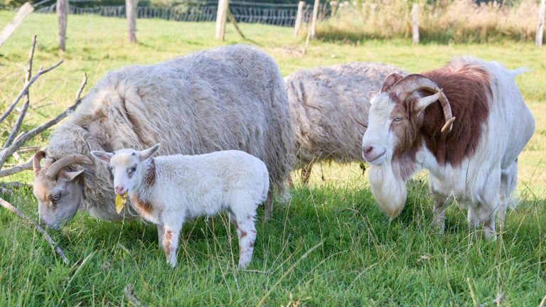
<instances>
[{"instance_id":1,"label":"wire mesh fence between wooden posts at upper left","mask_svg":"<svg viewBox=\"0 0 546 307\"><path fill-rule=\"evenodd\" d=\"M35 10L36 13L55 13L55 2L45 4ZM97 15L104 17L125 17L125 6L79 6L82 2L92 0L70 0L70 14ZM48 1L49 2L49 1ZM139 6L137 18L161 18L170 21L216 21L218 0L184 1L176 6L151 7ZM267 4L250 1L230 1L230 11L235 20L242 23L264 23L274 26L294 26L298 4ZM303 23L311 20L313 6L305 4L303 9ZM319 21L331 14L328 4L319 6Z\"/></svg>"}]
</instances>

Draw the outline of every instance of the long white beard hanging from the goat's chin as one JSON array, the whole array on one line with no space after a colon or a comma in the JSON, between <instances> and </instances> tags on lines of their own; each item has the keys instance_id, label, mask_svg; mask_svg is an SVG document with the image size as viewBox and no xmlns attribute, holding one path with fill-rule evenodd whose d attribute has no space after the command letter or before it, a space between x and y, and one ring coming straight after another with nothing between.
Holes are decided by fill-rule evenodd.
<instances>
[{"instance_id":1,"label":"long white beard hanging from the goat's chin","mask_svg":"<svg viewBox=\"0 0 546 307\"><path fill-rule=\"evenodd\" d=\"M406 182L395 174L392 163L387 161L379 166L370 165L370 188L378 207L391 220L404 209L407 198Z\"/></svg>"}]
</instances>

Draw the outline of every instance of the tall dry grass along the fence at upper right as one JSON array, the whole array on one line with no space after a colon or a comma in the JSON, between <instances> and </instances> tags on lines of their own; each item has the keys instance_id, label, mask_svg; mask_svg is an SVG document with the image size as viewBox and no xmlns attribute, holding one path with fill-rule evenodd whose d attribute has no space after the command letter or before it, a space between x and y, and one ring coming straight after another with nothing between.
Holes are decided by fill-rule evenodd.
<instances>
[{"instance_id":1,"label":"tall dry grass along the fence at upper right","mask_svg":"<svg viewBox=\"0 0 546 307\"><path fill-rule=\"evenodd\" d=\"M530 41L537 26L538 1L419 1L419 36L439 43ZM325 41L410 38L412 1L342 1L336 15L319 24Z\"/></svg>"}]
</instances>

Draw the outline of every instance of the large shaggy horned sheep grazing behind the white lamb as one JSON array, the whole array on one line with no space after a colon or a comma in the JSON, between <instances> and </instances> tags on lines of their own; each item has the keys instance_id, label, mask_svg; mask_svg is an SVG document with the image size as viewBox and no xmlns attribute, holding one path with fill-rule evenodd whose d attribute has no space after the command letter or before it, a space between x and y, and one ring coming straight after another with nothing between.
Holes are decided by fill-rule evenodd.
<instances>
[{"instance_id":1,"label":"large shaggy horned sheep grazing behind the white lamb","mask_svg":"<svg viewBox=\"0 0 546 307\"><path fill-rule=\"evenodd\" d=\"M277 64L255 48L230 45L109 72L34 157L41 220L58 227L78 208L107 220L132 217L131 210L114 210L110 172L90 161L90 151L157 143L161 154L237 149L262 159L271 183L269 216L272 189L282 192L295 162Z\"/></svg>"}]
</instances>

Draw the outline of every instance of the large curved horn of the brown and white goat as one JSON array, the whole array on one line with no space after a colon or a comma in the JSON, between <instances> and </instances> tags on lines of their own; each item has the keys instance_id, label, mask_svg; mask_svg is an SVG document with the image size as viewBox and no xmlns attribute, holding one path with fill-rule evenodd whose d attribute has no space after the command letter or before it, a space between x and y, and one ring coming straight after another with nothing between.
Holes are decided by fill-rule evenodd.
<instances>
[{"instance_id":1,"label":"large curved horn of the brown and white goat","mask_svg":"<svg viewBox=\"0 0 546 307\"><path fill-rule=\"evenodd\" d=\"M453 114L451 114L451 106L449 105L449 101L447 100L444 92L438 87L436 82L432 81L432 79L425 77L424 75L407 75L402 80L396 82L396 84L392 87L392 91L402 101L404 101L409 95L412 94L412 92L415 92L416 90L427 90L429 92L436 93L429 96L431 97L430 99L432 99L435 95L438 95L437 100L439 100L441 104L441 109L444 112L444 118L446 119L446 123L441 128L441 133L451 131L451 127L453 126L453 122L455 120ZM427 97L422 99L425 99L422 101L422 104L424 104L424 102L428 102ZM433 100L432 102L434 101L436 100ZM429 102L429 104L432 102ZM419 102L417 103L417 106L419 106Z\"/></svg>"}]
</instances>

